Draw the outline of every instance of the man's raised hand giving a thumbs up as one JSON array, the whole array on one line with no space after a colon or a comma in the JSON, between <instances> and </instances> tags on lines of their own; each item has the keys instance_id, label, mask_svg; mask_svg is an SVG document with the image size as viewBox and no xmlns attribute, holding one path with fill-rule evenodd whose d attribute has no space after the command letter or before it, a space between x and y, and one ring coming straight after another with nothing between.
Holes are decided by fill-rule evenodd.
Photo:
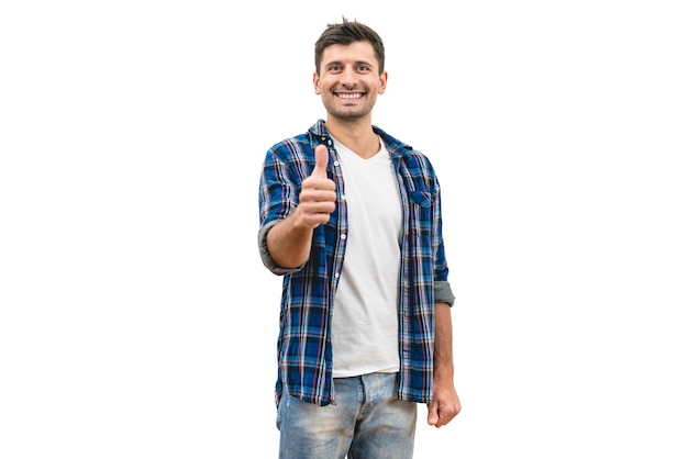
<instances>
[{"instance_id":1,"label":"man's raised hand giving a thumbs up","mask_svg":"<svg viewBox=\"0 0 688 459\"><path fill-rule=\"evenodd\" d=\"M315 147L315 167L301 183L297 212L301 222L310 228L323 225L334 212L336 192L334 181L328 178L328 147Z\"/></svg>"}]
</instances>

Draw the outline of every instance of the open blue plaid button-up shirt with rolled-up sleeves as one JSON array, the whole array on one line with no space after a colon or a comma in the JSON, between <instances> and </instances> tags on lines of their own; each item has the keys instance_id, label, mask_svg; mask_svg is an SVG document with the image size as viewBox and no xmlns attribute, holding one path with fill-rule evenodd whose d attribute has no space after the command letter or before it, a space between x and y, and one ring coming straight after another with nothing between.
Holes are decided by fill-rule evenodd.
<instances>
[{"instance_id":1,"label":"open blue plaid button-up shirt with rolled-up sleeves","mask_svg":"<svg viewBox=\"0 0 688 459\"><path fill-rule=\"evenodd\" d=\"M402 203L399 286L399 399L428 403L432 399L434 304L454 303L442 238L440 184L429 159L373 126L389 149ZM314 149L330 150L328 177L344 194L339 156L319 120L307 133L274 145L266 154L259 183L258 246L264 265L284 276L278 336L276 401L282 388L318 405L335 403L332 381L331 309L346 250L346 201L337 200L325 225L313 231L311 254L300 267L281 268L267 250L266 235L299 202L301 181L314 165Z\"/></svg>"}]
</instances>

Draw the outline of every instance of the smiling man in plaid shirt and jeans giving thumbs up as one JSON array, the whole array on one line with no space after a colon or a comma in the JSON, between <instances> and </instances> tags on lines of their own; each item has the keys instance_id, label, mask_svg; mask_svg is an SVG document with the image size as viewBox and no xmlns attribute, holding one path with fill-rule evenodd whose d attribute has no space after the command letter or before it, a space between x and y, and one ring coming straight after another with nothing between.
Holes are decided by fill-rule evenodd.
<instances>
[{"instance_id":1,"label":"smiling man in plaid shirt and jeans giving thumbs up","mask_svg":"<svg viewBox=\"0 0 688 459\"><path fill-rule=\"evenodd\" d=\"M343 20L315 43L326 109L274 145L258 245L284 276L276 384L280 458L411 458L417 404L460 411L440 184L429 159L371 124L385 47Z\"/></svg>"}]
</instances>

